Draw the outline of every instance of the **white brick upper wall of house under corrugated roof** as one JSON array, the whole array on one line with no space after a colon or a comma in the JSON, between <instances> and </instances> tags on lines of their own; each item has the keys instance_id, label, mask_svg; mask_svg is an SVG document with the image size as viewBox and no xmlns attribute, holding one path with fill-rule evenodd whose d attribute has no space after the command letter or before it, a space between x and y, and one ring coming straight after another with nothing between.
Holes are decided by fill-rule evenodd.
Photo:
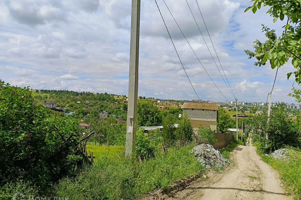
<instances>
[{"instance_id":1,"label":"white brick upper wall of house under corrugated roof","mask_svg":"<svg viewBox=\"0 0 301 200\"><path fill-rule=\"evenodd\" d=\"M191 120L214 121L217 119L217 111L201 109L183 109Z\"/></svg>"}]
</instances>

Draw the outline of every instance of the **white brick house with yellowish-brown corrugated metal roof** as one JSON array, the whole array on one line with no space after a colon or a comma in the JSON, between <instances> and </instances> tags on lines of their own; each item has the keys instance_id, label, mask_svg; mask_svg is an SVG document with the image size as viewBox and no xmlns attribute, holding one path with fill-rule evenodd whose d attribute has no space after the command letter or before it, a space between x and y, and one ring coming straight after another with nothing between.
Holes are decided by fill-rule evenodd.
<instances>
[{"instance_id":1,"label":"white brick house with yellowish-brown corrugated metal roof","mask_svg":"<svg viewBox=\"0 0 301 200\"><path fill-rule=\"evenodd\" d=\"M198 131L201 124L204 128L209 125L211 130L216 130L219 113L218 103L185 102L182 109L183 113L190 118L194 132Z\"/></svg>"}]
</instances>

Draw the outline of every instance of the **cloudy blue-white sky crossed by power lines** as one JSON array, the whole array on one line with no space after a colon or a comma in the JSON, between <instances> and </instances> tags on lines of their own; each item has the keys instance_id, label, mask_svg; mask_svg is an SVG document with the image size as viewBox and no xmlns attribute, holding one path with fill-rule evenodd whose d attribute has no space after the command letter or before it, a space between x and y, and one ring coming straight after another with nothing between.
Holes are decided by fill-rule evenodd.
<instances>
[{"instance_id":1,"label":"cloudy blue-white sky crossed by power lines","mask_svg":"<svg viewBox=\"0 0 301 200\"><path fill-rule=\"evenodd\" d=\"M187 0L219 70L185 0L166 0L216 86L193 54L163 0L157 0L184 68L199 98L234 101L219 70L213 46L195 0ZM285 20L272 22L261 8L244 10L245 0L198 0L215 50L238 101L265 102L276 69L254 66L244 50L265 41L261 24L279 35ZM128 94L131 1L4 0L0 2L0 78L32 89ZM294 103L288 97L294 68L279 68L272 102ZM224 78L225 79L225 78ZM295 86L299 87L297 84ZM161 19L155 0L141 1L138 95L164 99L197 99Z\"/></svg>"}]
</instances>

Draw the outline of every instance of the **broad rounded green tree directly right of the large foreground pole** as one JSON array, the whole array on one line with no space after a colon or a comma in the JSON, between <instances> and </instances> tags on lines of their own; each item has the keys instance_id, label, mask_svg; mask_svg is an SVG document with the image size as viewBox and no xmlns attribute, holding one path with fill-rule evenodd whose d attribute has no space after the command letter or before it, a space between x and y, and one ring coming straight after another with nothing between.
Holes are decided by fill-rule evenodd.
<instances>
[{"instance_id":1,"label":"broad rounded green tree directly right of the large foreground pole","mask_svg":"<svg viewBox=\"0 0 301 200\"><path fill-rule=\"evenodd\" d=\"M162 117L151 101L138 101L137 126L160 126Z\"/></svg>"}]
</instances>

